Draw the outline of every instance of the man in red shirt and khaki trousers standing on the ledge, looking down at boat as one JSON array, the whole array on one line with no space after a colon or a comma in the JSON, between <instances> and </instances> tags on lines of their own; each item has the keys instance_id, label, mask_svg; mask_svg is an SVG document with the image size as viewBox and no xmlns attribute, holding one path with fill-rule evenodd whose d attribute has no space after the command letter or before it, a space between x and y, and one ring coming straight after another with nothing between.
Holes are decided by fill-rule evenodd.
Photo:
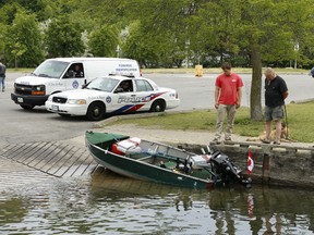
<instances>
[{"instance_id":1,"label":"man in red shirt and khaki trousers standing on the ledge, looking down at boat","mask_svg":"<svg viewBox=\"0 0 314 235\"><path fill-rule=\"evenodd\" d=\"M231 140L231 133L235 116L235 110L241 106L243 82L238 74L231 73L231 65L224 63L224 73L216 78L215 108L217 109L216 134L214 144L219 144L222 125L227 114L227 128L225 140Z\"/></svg>"}]
</instances>

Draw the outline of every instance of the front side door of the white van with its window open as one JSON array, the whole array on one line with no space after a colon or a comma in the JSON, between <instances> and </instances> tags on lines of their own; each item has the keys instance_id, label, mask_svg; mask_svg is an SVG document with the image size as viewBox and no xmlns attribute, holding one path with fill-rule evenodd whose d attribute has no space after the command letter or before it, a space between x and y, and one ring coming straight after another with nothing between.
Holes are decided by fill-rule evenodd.
<instances>
[{"instance_id":1,"label":"front side door of the white van with its window open","mask_svg":"<svg viewBox=\"0 0 314 235\"><path fill-rule=\"evenodd\" d=\"M83 63L73 63L64 73L62 79L65 82L65 90L80 89L85 83Z\"/></svg>"}]
</instances>

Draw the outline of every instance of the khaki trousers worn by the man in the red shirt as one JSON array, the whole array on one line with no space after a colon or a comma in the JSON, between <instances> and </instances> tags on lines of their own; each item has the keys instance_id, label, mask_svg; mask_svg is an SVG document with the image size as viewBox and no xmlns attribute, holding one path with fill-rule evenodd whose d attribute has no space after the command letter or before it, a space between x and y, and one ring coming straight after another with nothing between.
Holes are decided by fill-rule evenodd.
<instances>
[{"instance_id":1,"label":"khaki trousers worn by the man in the red shirt","mask_svg":"<svg viewBox=\"0 0 314 235\"><path fill-rule=\"evenodd\" d=\"M225 139L231 138L234 116L235 116L235 104L226 106L219 104L217 110L217 123L216 123L216 134L215 139L220 139L222 133L222 125L225 121L225 116L227 114L227 128L225 133Z\"/></svg>"}]
</instances>

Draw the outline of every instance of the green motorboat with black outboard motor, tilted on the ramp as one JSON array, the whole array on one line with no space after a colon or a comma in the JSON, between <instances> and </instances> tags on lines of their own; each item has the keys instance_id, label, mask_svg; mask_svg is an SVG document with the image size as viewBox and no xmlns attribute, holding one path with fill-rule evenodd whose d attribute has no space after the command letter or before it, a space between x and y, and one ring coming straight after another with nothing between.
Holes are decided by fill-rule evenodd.
<instances>
[{"instance_id":1,"label":"green motorboat with black outboard motor, tilted on the ramp","mask_svg":"<svg viewBox=\"0 0 314 235\"><path fill-rule=\"evenodd\" d=\"M128 177L200 189L250 184L221 152L197 154L161 143L89 131L85 139L96 162Z\"/></svg>"}]
</instances>

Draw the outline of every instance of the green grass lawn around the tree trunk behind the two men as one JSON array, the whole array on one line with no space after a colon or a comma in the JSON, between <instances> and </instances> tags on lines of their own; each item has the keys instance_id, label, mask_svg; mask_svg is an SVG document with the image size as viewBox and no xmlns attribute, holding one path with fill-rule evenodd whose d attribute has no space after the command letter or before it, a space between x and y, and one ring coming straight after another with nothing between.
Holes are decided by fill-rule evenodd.
<instances>
[{"instance_id":1,"label":"green grass lawn around the tree trunk behind the two men","mask_svg":"<svg viewBox=\"0 0 314 235\"><path fill-rule=\"evenodd\" d=\"M290 103L286 106L288 114L289 138L302 143L314 141L314 102ZM216 110L192 111L183 113L162 113L158 116L138 119L118 120L116 124L136 124L138 126L155 126L161 129L183 129L215 132ZM286 119L285 119L286 121ZM273 125L274 126L274 125ZM226 127L226 125L224 126ZM265 131L264 121L256 122L250 120L250 109L238 110L234 121L233 133L241 136L257 137Z\"/></svg>"}]
</instances>

